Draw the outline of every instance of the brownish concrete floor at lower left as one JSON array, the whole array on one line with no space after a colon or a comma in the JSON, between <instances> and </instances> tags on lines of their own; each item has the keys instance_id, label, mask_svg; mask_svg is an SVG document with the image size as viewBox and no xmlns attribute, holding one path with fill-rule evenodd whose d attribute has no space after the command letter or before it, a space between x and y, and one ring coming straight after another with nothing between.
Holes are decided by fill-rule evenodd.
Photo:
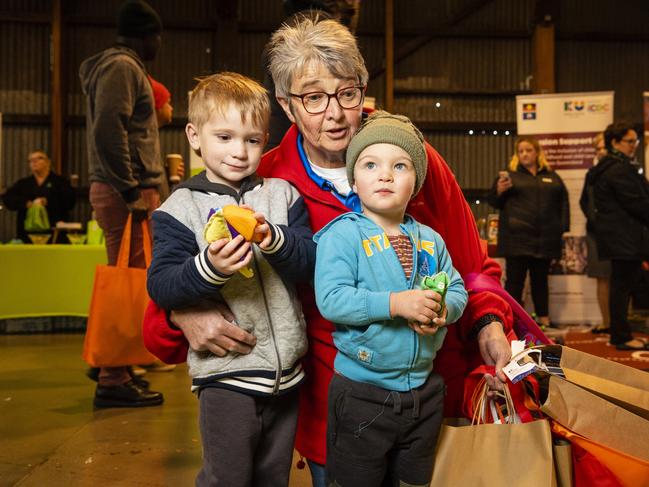
<instances>
[{"instance_id":1,"label":"brownish concrete floor at lower left","mask_svg":"<svg viewBox=\"0 0 649 487\"><path fill-rule=\"evenodd\" d=\"M201 444L185 366L147 374L160 407L93 411L82 342L0 335L0 486L193 485ZM290 486L310 486L308 470L293 468Z\"/></svg>"}]
</instances>

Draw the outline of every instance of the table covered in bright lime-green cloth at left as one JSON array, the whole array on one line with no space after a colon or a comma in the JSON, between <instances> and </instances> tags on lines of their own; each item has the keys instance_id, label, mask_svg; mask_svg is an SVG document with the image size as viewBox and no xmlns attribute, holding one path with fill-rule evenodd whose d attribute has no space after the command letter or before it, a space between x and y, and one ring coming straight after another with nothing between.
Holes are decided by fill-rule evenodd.
<instances>
[{"instance_id":1,"label":"table covered in bright lime-green cloth at left","mask_svg":"<svg viewBox=\"0 0 649 487\"><path fill-rule=\"evenodd\" d=\"M102 245L0 245L0 319L88 316Z\"/></svg>"}]
</instances>

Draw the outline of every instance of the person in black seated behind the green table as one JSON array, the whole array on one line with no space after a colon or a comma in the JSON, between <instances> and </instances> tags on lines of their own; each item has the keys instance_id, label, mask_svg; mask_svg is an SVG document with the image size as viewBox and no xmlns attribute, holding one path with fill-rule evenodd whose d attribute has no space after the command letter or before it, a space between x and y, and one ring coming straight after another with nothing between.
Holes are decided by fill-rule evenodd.
<instances>
[{"instance_id":1,"label":"person in black seated behind the green table","mask_svg":"<svg viewBox=\"0 0 649 487\"><path fill-rule=\"evenodd\" d=\"M74 189L70 181L52 171L52 161L45 152L37 150L27 157L31 176L19 179L3 196L7 208L18 212L16 218L16 236L25 243L31 243L25 231L27 208L33 205L44 206L52 226L57 222L67 221L69 212L74 206ZM67 242L65 236L61 235Z\"/></svg>"}]
</instances>

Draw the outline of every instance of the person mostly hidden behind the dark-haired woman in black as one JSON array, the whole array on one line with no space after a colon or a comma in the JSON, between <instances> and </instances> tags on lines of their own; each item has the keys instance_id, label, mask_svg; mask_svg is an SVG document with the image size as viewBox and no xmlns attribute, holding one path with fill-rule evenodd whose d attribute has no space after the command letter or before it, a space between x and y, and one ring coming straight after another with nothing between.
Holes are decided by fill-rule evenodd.
<instances>
[{"instance_id":1,"label":"person mostly hidden behind the dark-haired woman in black","mask_svg":"<svg viewBox=\"0 0 649 487\"><path fill-rule=\"evenodd\" d=\"M582 189L581 197L579 198L579 206L586 216L586 246L588 249L588 267L586 267L586 274L588 277L597 279L597 304L599 305L599 311L602 314L601 326L596 326L591 331L593 333L608 333L611 324L611 315L608 303L611 262L609 260L600 259L597 252L597 242L595 240L595 199L593 193L594 188L591 183L593 170L599 161L606 155L604 132L600 132L595 136L593 147L595 147L595 160L593 161L593 167L591 167L586 173L584 188Z\"/></svg>"}]
</instances>

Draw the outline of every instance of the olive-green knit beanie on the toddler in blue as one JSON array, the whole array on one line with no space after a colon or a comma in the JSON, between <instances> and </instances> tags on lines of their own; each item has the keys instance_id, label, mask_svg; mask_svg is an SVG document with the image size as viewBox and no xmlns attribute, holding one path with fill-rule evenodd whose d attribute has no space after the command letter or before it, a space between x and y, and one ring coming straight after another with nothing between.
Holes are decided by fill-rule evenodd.
<instances>
[{"instance_id":1,"label":"olive-green knit beanie on the toddler in blue","mask_svg":"<svg viewBox=\"0 0 649 487\"><path fill-rule=\"evenodd\" d=\"M396 145L410 155L417 174L413 197L419 193L428 169L424 136L408 117L392 115L380 110L367 117L349 143L345 157L349 184L354 184L354 166L358 156L364 149L374 144Z\"/></svg>"}]
</instances>

